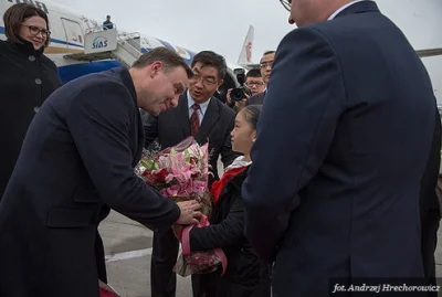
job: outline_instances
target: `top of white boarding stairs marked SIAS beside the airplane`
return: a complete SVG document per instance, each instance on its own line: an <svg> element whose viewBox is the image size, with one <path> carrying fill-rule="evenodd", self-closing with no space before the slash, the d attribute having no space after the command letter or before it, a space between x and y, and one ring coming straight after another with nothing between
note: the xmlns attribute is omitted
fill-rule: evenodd
<svg viewBox="0 0 442 297"><path fill-rule="evenodd" d="M84 35L84 53L65 55L76 61L116 60L130 67L143 54L140 34L118 33L117 30L92 31Z"/></svg>

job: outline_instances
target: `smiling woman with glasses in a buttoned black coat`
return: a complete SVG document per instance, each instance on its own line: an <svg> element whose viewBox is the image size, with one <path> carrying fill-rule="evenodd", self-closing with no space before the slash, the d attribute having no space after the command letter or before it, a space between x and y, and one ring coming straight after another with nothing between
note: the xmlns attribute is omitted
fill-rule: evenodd
<svg viewBox="0 0 442 297"><path fill-rule="evenodd" d="M51 36L46 13L14 4L3 22L8 40L0 41L0 201L33 116L62 85L55 64L43 54Z"/></svg>

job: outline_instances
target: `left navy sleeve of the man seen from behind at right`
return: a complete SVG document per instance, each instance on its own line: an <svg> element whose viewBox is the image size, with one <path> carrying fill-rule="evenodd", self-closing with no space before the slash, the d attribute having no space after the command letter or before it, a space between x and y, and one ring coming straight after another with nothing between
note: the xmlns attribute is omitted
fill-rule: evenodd
<svg viewBox="0 0 442 297"><path fill-rule="evenodd" d="M326 157L345 100L327 41L308 28L288 33L275 56L242 189L245 234L263 258L273 261L299 191Z"/></svg>

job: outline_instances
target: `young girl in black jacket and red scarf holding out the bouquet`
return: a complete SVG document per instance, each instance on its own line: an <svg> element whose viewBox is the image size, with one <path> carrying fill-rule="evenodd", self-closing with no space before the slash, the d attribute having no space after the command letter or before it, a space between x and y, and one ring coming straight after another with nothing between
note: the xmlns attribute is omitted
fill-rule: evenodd
<svg viewBox="0 0 442 297"><path fill-rule="evenodd" d="M193 227L189 233L191 252L210 251L221 247L228 258L225 274L221 269L211 274L193 275L193 296L199 297L270 297L269 264L260 259L244 237L244 210L241 185L251 163L250 150L256 136L256 124L261 105L242 108L235 118L231 132L232 148L242 152L229 166L220 181L215 181L211 192L214 204L210 225ZM182 236L182 227L173 226Z"/></svg>

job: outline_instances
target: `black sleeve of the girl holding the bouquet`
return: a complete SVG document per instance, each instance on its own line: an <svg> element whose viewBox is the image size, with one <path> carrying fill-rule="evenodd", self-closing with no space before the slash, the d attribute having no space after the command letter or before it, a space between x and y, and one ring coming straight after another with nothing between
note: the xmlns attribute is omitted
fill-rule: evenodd
<svg viewBox="0 0 442 297"><path fill-rule="evenodd" d="M215 225L193 227L189 233L191 251L208 251L238 243L244 236L244 210L235 199L228 216Z"/></svg>

